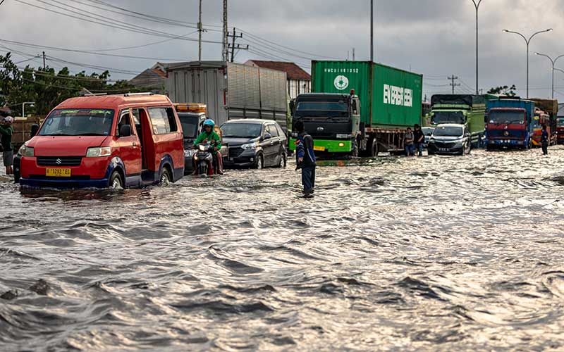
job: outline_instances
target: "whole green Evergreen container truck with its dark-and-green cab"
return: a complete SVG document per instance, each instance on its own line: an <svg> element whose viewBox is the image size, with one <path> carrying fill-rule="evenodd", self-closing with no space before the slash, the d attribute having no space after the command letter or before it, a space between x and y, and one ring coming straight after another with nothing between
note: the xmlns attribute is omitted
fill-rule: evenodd
<svg viewBox="0 0 564 352"><path fill-rule="evenodd" d="M318 153L403 152L407 127L421 123L423 77L369 61L312 61L312 91L292 103ZM295 149L290 139L290 149Z"/></svg>

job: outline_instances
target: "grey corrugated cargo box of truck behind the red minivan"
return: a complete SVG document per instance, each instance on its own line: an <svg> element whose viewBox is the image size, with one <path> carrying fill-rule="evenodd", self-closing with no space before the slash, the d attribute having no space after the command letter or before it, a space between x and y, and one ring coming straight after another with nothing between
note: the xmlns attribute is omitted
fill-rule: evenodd
<svg viewBox="0 0 564 352"><path fill-rule="evenodd" d="M286 129L286 73L223 61L161 64L173 103L207 105L216 125L240 118L276 120Z"/></svg>

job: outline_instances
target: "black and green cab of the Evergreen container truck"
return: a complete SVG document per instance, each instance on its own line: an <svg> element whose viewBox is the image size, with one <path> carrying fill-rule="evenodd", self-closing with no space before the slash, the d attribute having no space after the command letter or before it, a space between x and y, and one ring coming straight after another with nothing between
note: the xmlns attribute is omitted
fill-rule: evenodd
<svg viewBox="0 0 564 352"><path fill-rule="evenodd" d="M357 155L360 139L360 100L347 94L300 94L290 104L293 123L302 121L314 139L314 150L321 153ZM295 138L290 149L295 150Z"/></svg>

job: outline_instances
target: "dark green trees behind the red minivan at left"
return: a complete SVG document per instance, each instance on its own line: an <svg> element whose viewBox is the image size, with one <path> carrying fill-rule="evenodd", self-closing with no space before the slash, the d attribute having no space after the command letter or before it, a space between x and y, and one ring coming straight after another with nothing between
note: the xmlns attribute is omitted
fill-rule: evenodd
<svg viewBox="0 0 564 352"><path fill-rule="evenodd" d="M0 55L0 107L8 106L13 115L21 115L22 103L35 101L35 106L26 106L25 112L47 115L52 108L65 99L79 96L83 89L92 93L137 92L128 81L111 81L109 71L87 75L85 71L71 75L68 68L57 73L54 68L24 69L13 63L11 54Z"/></svg>

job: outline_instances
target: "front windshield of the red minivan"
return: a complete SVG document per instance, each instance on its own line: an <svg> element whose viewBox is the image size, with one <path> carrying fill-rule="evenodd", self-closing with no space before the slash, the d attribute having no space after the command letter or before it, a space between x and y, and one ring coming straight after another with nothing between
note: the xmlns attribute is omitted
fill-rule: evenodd
<svg viewBox="0 0 564 352"><path fill-rule="evenodd" d="M39 136L109 136L111 109L59 109L47 116Z"/></svg>

